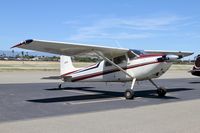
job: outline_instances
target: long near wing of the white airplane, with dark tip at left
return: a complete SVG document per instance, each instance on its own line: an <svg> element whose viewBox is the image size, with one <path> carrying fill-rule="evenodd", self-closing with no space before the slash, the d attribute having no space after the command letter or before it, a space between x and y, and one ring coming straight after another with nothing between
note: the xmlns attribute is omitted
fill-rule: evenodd
<svg viewBox="0 0 200 133"><path fill-rule="evenodd" d="M95 46L87 44L42 41L42 40L32 40L32 39L19 43L13 46L12 48L15 47L28 50L35 50L40 52L47 52L52 54L67 55L67 56L74 56L74 55L91 53L93 51L98 51L108 58L123 55L129 50L124 48L113 48L113 47Z"/></svg>

